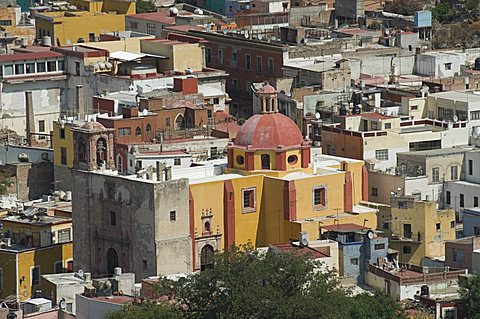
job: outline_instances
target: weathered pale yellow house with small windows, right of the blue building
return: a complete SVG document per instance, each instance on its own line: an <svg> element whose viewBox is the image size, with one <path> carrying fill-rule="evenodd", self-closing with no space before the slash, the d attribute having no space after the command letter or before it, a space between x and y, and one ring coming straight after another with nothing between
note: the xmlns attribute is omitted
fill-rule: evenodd
<svg viewBox="0 0 480 319"><path fill-rule="evenodd" d="M454 240L455 211L437 210L433 201L411 196L393 197L382 208L378 225L390 237L390 248L398 250L399 261L421 265L424 258L445 256L445 242Z"/></svg>

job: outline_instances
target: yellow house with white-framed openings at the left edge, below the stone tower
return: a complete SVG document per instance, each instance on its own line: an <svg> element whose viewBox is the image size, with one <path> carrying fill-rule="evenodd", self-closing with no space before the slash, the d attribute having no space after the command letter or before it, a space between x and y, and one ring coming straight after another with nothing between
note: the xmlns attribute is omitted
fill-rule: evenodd
<svg viewBox="0 0 480 319"><path fill-rule="evenodd" d="M42 274L73 270L71 218L32 208L2 223L0 298L24 301L41 289Z"/></svg>

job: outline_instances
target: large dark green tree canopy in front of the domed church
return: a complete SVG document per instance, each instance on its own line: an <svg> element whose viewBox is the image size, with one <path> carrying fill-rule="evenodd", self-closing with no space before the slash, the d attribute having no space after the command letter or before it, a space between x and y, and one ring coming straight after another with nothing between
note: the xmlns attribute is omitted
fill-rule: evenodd
<svg viewBox="0 0 480 319"><path fill-rule="evenodd" d="M158 306L164 311L158 318L406 318L400 304L381 292L350 296L337 277L319 271L319 262L312 258L241 247L214 254L211 264L176 282L159 281L158 292L172 301L167 308ZM157 310L139 305L109 319L133 318L135 311L138 318L150 318L143 312Z"/></svg>

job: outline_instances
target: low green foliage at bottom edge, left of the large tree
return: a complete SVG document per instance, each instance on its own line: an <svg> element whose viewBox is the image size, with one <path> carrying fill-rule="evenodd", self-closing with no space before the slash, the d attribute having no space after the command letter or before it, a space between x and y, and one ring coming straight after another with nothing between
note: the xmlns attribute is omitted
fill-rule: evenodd
<svg viewBox="0 0 480 319"><path fill-rule="evenodd" d="M144 302L109 313L105 319L180 319L182 314L168 304Z"/></svg>

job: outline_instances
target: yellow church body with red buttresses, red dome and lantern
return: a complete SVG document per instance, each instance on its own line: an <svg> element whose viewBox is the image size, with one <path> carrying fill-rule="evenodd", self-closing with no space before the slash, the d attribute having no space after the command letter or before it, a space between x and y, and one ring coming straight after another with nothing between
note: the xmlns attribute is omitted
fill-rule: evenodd
<svg viewBox="0 0 480 319"><path fill-rule="evenodd" d="M354 223L375 229L376 210L361 205L368 189L364 162L321 155L295 123L278 113L270 85L257 92L262 113L247 120L228 146L225 174L191 179L195 269L233 244L255 246L319 238L320 226Z"/></svg>

